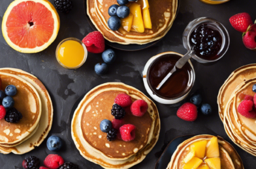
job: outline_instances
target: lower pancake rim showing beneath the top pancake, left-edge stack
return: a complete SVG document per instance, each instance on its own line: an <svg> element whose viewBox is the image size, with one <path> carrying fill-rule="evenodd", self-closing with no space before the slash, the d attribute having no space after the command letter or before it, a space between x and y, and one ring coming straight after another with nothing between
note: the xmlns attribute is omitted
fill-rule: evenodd
<svg viewBox="0 0 256 169"><path fill-rule="evenodd" d="M25 81L29 82L31 85L33 85L37 90L37 92L39 93L40 100L42 103L42 114L39 120L39 127L37 131L34 130L35 134L29 135L30 137L26 137L27 140L25 140L21 144L18 144L15 147L6 148L4 146L0 146L0 153L8 154L12 152L15 154L24 154L31 151L32 149L35 149L35 147L39 146L48 135L52 127L52 119L53 119L52 100L45 86L34 75L31 75L22 70L13 69L13 68L2 68L0 69L0 73L1 72L17 75L22 79L25 79Z"/></svg>

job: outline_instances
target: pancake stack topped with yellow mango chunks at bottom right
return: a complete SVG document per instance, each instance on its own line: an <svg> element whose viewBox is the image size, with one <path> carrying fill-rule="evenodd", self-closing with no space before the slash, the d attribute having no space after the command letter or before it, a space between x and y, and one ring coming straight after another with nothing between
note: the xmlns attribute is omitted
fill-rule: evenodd
<svg viewBox="0 0 256 169"><path fill-rule="evenodd" d="M182 142L182 144L180 144L178 146L178 148L176 149L176 151L174 151L173 155L172 155L172 159L170 160L170 163L167 166L167 169L184 169L187 168L188 166L186 166L186 164L193 164L195 163L198 159L198 164L195 166L189 166L189 168L187 169L191 169L191 168L197 168L197 169L210 169L210 168L221 168L221 169L243 169L243 163L242 160L240 159L240 156L238 155L238 153L236 152L236 150L231 146L231 144L229 144L228 142L226 142L225 140L223 140L223 138L220 137L215 137L216 138L216 144L217 149L219 151L218 153L218 157L211 157L212 162L211 162L211 158L207 157L208 156L208 152L210 153L214 153L214 149L210 149L210 144L211 142L214 142L213 139L214 136L212 135L197 135L197 136L193 136L192 138L189 138L188 140L185 140L184 142ZM198 144L199 143L199 144ZM204 146L201 146L203 144ZM195 146L197 145L197 146ZM197 147L198 149L196 149L196 152L194 154L194 156L190 156L192 149L195 150L194 148ZM197 152L198 151L202 151L202 157L198 157L200 156L200 154ZM205 153L204 153L205 151ZM197 158L198 157L198 158ZM218 159L218 160L216 160ZM220 159L220 161L219 161ZM217 162L218 161L218 162ZM214 162L216 162L216 165L214 165Z"/></svg>

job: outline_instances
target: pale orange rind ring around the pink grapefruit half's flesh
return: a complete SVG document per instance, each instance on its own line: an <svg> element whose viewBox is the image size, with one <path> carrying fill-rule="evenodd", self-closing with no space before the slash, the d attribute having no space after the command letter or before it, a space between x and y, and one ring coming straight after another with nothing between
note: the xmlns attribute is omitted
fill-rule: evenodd
<svg viewBox="0 0 256 169"><path fill-rule="evenodd" d="M29 0L29 1L33 1L35 3L41 3L46 8L48 8L48 10L50 10L50 12L52 13L52 17L54 18L54 32L53 32L51 38L48 40L48 42L41 45L40 47L37 46L37 47L34 47L34 48L22 48L22 47L20 47L16 44L14 44L10 40L10 38L8 37L7 19L8 19L8 16L9 16L12 8L14 8L14 6L18 5L19 3L26 2L26 1L27 0L16 0L16 1L13 1L12 3L10 3L10 5L8 6L8 8L5 12L5 15L3 16L3 22L2 22L3 37L5 38L7 44L10 45L10 47L15 49L16 51L19 51L21 53L38 53L38 52L43 51L44 49L46 49L56 39L57 34L59 32L59 22L60 22L59 21L59 14L57 13L56 8L54 7L54 5L52 5L52 3L50 3L47 0Z"/></svg>

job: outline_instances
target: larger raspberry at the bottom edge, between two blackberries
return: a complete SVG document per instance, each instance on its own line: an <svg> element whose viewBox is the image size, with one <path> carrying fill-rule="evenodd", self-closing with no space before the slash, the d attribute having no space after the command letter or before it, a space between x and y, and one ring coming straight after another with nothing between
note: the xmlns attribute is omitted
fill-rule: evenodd
<svg viewBox="0 0 256 169"><path fill-rule="evenodd" d="M57 169L59 166L61 166L64 163L64 160L62 157L60 157L57 154L50 154L44 159L44 166L51 168L51 169Z"/></svg>

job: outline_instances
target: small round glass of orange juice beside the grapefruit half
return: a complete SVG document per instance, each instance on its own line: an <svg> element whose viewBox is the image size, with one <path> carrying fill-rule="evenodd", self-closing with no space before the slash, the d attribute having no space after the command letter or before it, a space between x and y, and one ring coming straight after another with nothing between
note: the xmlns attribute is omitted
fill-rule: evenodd
<svg viewBox="0 0 256 169"><path fill-rule="evenodd" d="M67 69L80 68L86 62L88 51L86 45L77 38L67 38L59 43L56 49L56 59Z"/></svg>

